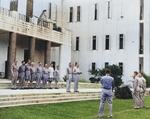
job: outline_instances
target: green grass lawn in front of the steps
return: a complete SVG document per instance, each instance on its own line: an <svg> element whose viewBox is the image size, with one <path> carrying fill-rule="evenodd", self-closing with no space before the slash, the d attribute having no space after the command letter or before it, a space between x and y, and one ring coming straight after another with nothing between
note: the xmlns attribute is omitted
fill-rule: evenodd
<svg viewBox="0 0 150 119"><path fill-rule="evenodd" d="M98 119L100 100L0 108L0 119ZM113 119L150 119L150 96L145 108L133 109L133 100L113 100ZM108 105L104 116L107 119Z"/></svg>

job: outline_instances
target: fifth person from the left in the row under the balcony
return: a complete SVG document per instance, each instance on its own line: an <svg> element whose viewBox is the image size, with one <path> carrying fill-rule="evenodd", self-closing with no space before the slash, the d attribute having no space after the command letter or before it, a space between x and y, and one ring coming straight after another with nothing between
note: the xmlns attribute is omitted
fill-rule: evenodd
<svg viewBox="0 0 150 119"><path fill-rule="evenodd" d="M42 67L41 67L42 63L38 62L38 66L36 67L36 88L40 89L40 83L41 83L41 79L42 79Z"/></svg>

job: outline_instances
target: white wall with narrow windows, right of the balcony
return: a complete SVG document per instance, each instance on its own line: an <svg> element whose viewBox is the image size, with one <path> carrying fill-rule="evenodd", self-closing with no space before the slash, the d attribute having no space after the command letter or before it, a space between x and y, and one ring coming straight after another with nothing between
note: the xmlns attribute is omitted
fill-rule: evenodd
<svg viewBox="0 0 150 119"><path fill-rule="evenodd" d="M112 1L112 19L107 19L107 2L109 0L65 0L64 27L73 31L72 62L80 63L83 71L81 78L88 79L88 70L92 62L97 68L103 68L105 62L119 64L123 62L123 79L130 80L134 70L139 70L139 1ZM94 4L98 4L98 20L94 21ZM130 4L129 4L130 3ZM81 22L75 21L77 6L81 6ZM73 23L68 23L69 7L73 7ZM134 9L133 9L134 8ZM124 17L121 18L120 16ZM124 34L125 48L119 50L119 34ZM90 39L98 37L98 50L90 50ZM105 35L110 35L110 50L105 50ZM74 51L76 37L80 37L80 51Z"/></svg>

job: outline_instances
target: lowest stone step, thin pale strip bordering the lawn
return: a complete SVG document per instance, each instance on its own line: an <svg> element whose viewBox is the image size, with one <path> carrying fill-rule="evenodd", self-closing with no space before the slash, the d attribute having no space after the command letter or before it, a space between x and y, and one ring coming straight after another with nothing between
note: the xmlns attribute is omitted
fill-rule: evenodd
<svg viewBox="0 0 150 119"><path fill-rule="evenodd" d="M14 106L25 106L25 105L37 105L37 104L50 104L50 103L86 101L86 100L99 100L99 99L100 98L88 98L88 99L76 99L76 100L51 101L51 102L42 102L42 103L26 103L26 104L0 105L0 108L3 108L3 107L14 107Z"/></svg>

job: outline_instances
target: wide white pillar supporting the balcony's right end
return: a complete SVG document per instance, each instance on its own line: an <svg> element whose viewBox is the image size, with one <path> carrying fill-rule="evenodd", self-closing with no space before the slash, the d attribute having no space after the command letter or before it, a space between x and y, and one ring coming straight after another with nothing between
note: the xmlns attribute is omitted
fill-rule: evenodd
<svg viewBox="0 0 150 119"><path fill-rule="evenodd" d="M60 45L60 80L67 74L67 67L71 62L71 46Z"/></svg>

